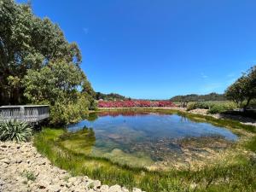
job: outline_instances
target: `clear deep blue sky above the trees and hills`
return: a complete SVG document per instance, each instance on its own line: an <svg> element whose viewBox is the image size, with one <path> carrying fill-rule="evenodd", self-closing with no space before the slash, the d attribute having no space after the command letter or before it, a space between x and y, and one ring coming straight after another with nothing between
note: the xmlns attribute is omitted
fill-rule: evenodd
<svg viewBox="0 0 256 192"><path fill-rule="evenodd" d="M32 0L32 8L79 44L103 93L223 93L256 63L255 0Z"/></svg>

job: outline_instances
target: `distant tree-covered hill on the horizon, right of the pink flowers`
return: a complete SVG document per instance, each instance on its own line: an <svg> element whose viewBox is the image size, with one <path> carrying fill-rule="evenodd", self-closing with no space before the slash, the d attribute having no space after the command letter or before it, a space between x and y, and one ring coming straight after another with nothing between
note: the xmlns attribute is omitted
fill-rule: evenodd
<svg viewBox="0 0 256 192"><path fill-rule="evenodd" d="M224 101L227 100L224 94L210 93L207 95L190 94L186 96L173 96L172 102L207 102L207 101Z"/></svg>

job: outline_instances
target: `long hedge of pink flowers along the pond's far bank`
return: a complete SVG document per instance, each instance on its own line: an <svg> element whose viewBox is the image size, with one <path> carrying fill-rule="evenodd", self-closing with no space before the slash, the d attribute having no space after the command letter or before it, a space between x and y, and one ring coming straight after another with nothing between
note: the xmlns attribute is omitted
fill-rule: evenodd
<svg viewBox="0 0 256 192"><path fill-rule="evenodd" d="M173 102L148 100L127 100L127 101L99 101L99 108L167 108L175 107Z"/></svg>

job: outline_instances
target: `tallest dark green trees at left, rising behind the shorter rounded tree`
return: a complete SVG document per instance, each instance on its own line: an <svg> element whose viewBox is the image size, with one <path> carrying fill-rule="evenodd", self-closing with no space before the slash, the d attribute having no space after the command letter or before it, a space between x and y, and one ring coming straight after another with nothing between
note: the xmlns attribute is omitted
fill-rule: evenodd
<svg viewBox="0 0 256 192"><path fill-rule="evenodd" d="M49 61L79 66L78 45L68 43L61 28L32 14L29 4L0 0L0 105L25 102L20 81L27 69L38 70Z"/></svg>

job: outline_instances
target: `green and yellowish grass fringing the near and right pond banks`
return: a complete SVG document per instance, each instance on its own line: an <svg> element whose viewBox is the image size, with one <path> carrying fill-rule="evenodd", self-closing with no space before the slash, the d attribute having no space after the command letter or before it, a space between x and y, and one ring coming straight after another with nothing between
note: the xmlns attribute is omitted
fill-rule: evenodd
<svg viewBox="0 0 256 192"><path fill-rule="evenodd" d="M150 112L177 113L199 122L241 129L255 133L255 127L241 125L233 120L214 119L204 115L195 115L173 110L150 109ZM245 154L236 155L231 163L227 160L201 170L172 170L168 172L148 171L140 167L131 167L113 163L104 158L94 158L65 148L61 136L65 130L44 129L34 137L38 151L62 169L73 175L87 175L99 179L104 184L120 184L129 189L141 188L148 192L158 191L256 191L256 163ZM255 152L256 139L244 144L244 148Z"/></svg>

